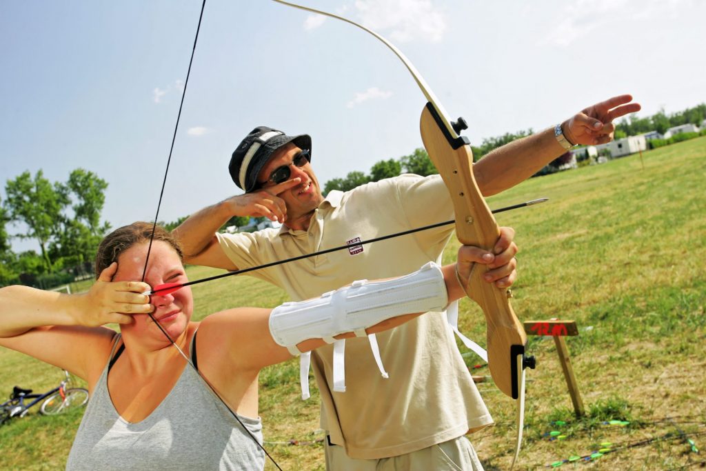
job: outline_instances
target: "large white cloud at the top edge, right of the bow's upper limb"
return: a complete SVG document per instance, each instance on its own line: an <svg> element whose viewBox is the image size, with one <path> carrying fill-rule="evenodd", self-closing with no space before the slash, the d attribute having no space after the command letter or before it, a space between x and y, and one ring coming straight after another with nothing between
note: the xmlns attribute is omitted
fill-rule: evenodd
<svg viewBox="0 0 706 471"><path fill-rule="evenodd" d="M431 0L357 0L355 7L367 28L390 31L393 42L438 42L446 30L443 13Z"/></svg>

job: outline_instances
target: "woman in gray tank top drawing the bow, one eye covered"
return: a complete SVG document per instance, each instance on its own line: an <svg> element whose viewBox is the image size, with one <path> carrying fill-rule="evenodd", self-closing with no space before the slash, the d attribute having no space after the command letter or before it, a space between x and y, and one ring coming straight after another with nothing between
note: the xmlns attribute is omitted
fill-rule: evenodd
<svg viewBox="0 0 706 471"><path fill-rule="evenodd" d="M105 237L99 276L86 294L0 289L0 345L88 382L91 400L68 470L263 469L257 379L264 366L291 358L295 348L325 345L323 338L375 333L419 315L409 313L443 309L465 295L455 269L466 279L472 263L491 263L493 281L512 283L516 276L513 232L503 229L505 250L492 261L465 246L457 266L427 267L400 281L354 285L273 311L229 309L192 322L189 287L143 294L187 281L179 244L159 227L140 281L151 235L151 224L136 222ZM401 301L390 310L395 293ZM369 302L355 306L354 316L352 309L340 314L357 299ZM107 323L119 323L120 332Z"/></svg>

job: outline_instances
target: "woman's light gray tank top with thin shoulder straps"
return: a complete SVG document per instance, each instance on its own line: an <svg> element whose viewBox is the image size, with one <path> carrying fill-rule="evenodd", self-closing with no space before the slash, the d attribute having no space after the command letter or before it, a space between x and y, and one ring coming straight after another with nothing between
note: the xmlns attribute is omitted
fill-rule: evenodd
<svg viewBox="0 0 706 471"><path fill-rule="evenodd" d="M196 337L196 335L194 335ZM116 336L113 358L120 335ZM194 345L192 343L191 352ZM110 363L110 361L109 361ZM66 470L262 470L265 454L186 366L162 403L144 420L127 422L110 400L107 364L68 454ZM260 419L238 415L259 443Z"/></svg>

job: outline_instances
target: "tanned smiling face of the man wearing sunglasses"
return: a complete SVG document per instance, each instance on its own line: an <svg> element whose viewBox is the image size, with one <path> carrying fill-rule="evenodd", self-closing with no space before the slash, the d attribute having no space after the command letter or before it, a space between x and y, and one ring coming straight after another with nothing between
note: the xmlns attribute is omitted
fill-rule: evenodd
<svg viewBox="0 0 706 471"><path fill-rule="evenodd" d="M282 166L289 168L288 181L297 177L301 179L299 185L277 194L287 205L287 220L297 220L304 215L312 213L323 201L321 187L309 162L306 162L301 167L292 164L292 161L299 153L301 153L301 149L293 143L283 145L282 148L277 149L273 154L267 165L258 174L257 179L262 189L270 189L275 186L273 181L269 181L270 175L275 169Z"/></svg>

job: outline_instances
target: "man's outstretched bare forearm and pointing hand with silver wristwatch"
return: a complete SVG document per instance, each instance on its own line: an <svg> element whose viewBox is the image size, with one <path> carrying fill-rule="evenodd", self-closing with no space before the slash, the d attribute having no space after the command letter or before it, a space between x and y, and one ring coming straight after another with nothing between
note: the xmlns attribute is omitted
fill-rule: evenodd
<svg viewBox="0 0 706 471"><path fill-rule="evenodd" d="M563 121L564 136L573 144L597 145L612 141L614 119L640 110L633 97L620 95L582 109ZM554 128L517 139L484 156L473 166L481 193L491 196L525 181L565 153L554 137Z"/></svg>

